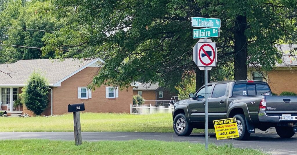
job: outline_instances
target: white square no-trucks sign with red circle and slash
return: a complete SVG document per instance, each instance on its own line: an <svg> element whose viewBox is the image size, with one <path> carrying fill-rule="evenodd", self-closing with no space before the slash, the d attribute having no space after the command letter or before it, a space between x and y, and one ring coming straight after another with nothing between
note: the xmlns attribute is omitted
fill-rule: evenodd
<svg viewBox="0 0 297 155"><path fill-rule="evenodd" d="M197 44L197 66L217 66L217 45L215 42L198 42Z"/></svg>

